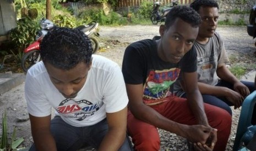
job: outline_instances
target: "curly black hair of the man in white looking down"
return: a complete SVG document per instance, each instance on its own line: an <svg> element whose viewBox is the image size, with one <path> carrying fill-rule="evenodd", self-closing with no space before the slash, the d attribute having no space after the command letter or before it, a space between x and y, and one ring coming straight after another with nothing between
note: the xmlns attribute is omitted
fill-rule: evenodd
<svg viewBox="0 0 256 151"><path fill-rule="evenodd" d="M54 27L40 44L43 62L69 70L78 63L91 61L92 44L88 36L75 28Z"/></svg>

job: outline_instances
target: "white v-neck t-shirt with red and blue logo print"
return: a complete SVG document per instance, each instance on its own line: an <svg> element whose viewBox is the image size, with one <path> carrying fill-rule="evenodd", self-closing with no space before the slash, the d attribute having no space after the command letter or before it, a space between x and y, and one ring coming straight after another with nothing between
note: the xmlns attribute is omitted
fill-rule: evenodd
<svg viewBox="0 0 256 151"><path fill-rule="evenodd" d="M92 55L88 77L75 98L65 98L55 88L42 61L26 74L25 98L31 115L46 117L53 107L66 123L77 127L99 123L106 113L121 111L128 103L121 68L99 55Z"/></svg>

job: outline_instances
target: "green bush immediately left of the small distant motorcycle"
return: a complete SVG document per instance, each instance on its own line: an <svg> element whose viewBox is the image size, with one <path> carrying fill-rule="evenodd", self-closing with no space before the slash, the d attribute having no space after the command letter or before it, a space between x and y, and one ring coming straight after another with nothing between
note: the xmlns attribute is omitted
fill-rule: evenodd
<svg viewBox="0 0 256 151"><path fill-rule="evenodd" d="M144 19L149 19L152 12L153 3L149 1L143 1L140 4L140 7L137 11L137 17L141 19L143 17Z"/></svg>

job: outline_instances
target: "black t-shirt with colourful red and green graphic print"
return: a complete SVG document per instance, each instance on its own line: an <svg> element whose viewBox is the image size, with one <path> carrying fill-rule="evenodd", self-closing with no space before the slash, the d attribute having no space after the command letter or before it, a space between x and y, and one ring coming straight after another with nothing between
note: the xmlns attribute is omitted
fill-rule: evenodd
<svg viewBox="0 0 256 151"><path fill-rule="evenodd" d="M172 85L180 72L197 71L197 53L192 47L178 63L165 62L157 54L153 39L144 39L130 44L122 65L124 81L127 84L143 84L143 101L154 105L168 101L172 96Z"/></svg>

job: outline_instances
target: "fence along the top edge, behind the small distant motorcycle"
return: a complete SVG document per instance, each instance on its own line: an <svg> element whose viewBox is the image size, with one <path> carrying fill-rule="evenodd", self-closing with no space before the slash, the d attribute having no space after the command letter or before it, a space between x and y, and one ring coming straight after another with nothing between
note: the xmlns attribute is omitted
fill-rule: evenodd
<svg viewBox="0 0 256 151"><path fill-rule="evenodd" d="M119 0L117 7L122 8L122 7L138 7L142 1L145 0ZM151 2L161 2L162 5L168 5L171 4L173 0L148 0ZM190 4L194 0L179 0L179 4Z"/></svg>

